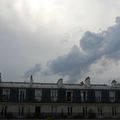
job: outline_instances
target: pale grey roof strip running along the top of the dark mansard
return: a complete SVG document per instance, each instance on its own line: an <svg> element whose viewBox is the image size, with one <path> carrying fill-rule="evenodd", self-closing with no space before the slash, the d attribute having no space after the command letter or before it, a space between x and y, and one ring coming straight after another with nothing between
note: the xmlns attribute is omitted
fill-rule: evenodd
<svg viewBox="0 0 120 120"><path fill-rule="evenodd" d="M17 87L17 88L54 88L58 89L57 83L32 83L29 82L1 82L0 87ZM120 84L112 87L107 84L91 84L90 87L80 84L63 84L62 88L65 89L120 89Z"/></svg>

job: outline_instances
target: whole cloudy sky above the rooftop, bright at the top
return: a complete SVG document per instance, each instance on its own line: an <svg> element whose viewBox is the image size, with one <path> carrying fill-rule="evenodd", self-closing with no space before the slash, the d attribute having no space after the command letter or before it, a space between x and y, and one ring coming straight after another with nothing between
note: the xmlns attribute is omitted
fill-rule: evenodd
<svg viewBox="0 0 120 120"><path fill-rule="evenodd" d="M119 0L0 0L3 81L120 81Z"/></svg>

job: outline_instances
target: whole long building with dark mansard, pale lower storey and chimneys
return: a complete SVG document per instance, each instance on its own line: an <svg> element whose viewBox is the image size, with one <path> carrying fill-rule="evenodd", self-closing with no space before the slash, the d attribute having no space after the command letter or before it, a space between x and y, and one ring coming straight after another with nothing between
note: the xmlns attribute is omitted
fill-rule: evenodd
<svg viewBox="0 0 120 120"><path fill-rule="evenodd" d="M120 85L0 82L0 118L120 118Z"/></svg>

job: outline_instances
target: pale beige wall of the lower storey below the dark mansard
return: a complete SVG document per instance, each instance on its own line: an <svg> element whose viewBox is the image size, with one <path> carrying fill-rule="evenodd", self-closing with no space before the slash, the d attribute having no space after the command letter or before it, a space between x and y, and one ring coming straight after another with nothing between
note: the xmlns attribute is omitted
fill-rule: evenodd
<svg viewBox="0 0 120 120"><path fill-rule="evenodd" d="M68 107L72 107L72 114L71 116L77 115L77 114L83 114L83 107L87 107L87 115L89 115L90 111L97 116L101 118L112 118L112 117L120 117L120 105L119 104L21 104L21 103L0 103L0 113L2 111L2 108L4 106L7 106L7 113L13 113L14 116L19 116L19 107L23 106L24 107L24 115L26 116L28 113L31 115L35 113L35 107L40 107L40 113L56 113L56 114L61 114L64 113L68 115ZM116 115L112 116L112 107L116 106ZM102 108L102 115L98 115L98 107Z"/></svg>

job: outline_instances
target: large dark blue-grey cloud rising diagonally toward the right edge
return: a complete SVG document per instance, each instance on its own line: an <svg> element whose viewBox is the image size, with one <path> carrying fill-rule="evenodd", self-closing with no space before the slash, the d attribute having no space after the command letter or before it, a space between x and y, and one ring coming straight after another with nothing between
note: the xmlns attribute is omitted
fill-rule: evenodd
<svg viewBox="0 0 120 120"><path fill-rule="evenodd" d="M80 40L80 47L73 46L68 54L49 62L48 66L53 74L68 76L69 82L75 83L103 57L113 62L120 60L120 17L106 31L87 31Z"/></svg>

